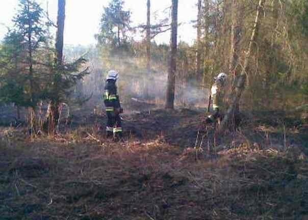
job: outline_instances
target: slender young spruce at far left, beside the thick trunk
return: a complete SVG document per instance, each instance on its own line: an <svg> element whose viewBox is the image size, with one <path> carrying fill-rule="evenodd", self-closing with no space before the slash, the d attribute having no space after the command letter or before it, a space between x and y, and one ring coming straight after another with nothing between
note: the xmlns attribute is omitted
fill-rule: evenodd
<svg viewBox="0 0 308 220"><path fill-rule="evenodd" d="M29 106L30 124L32 133L36 129L35 108L41 96L38 51L45 41L43 28L43 10L34 0L19 0L19 9L13 22L16 35L20 38L20 65L18 73L27 80L23 82L24 103Z"/></svg>

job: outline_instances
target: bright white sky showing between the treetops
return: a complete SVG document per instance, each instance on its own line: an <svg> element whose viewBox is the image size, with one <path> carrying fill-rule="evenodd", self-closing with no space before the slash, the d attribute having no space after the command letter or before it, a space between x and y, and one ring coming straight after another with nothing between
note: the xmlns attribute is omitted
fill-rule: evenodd
<svg viewBox="0 0 308 220"><path fill-rule="evenodd" d="M46 2L49 2L49 16L56 22L58 0L37 0L41 7L46 9ZM65 20L65 44L94 44L94 34L98 33L99 21L103 12L103 7L108 6L110 0L66 0L66 20ZM178 28L179 40L192 43L196 38L196 30L192 28L191 20L197 17L197 0L179 0L178 22L183 23ZM12 18L16 14L18 0L0 0L0 40L7 32L6 26L12 26ZM163 10L171 6L171 0L151 1L151 22L161 18ZM126 0L125 9L132 11L131 20L133 25L146 22L146 0ZM155 12L158 17L155 19ZM167 11L168 12L168 11ZM168 43L170 33L166 32L158 35L155 40L158 43Z"/></svg>

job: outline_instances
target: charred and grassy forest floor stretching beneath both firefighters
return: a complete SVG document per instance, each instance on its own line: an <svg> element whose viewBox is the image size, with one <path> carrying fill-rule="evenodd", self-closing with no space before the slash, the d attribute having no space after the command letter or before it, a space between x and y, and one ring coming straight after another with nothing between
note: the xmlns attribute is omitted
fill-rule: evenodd
<svg viewBox="0 0 308 220"><path fill-rule="evenodd" d="M307 126L247 113L216 135L203 109L76 113L60 134L0 127L0 219L308 219Z"/></svg>

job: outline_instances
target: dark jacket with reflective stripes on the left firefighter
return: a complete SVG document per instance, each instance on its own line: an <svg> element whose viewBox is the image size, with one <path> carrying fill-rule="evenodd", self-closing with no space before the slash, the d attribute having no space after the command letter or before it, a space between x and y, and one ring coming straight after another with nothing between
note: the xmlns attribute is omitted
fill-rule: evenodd
<svg viewBox="0 0 308 220"><path fill-rule="evenodd" d="M104 103L107 112L114 112L115 109L121 108L117 86L115 83L116 81L112 79L106 81Z"/></svg>

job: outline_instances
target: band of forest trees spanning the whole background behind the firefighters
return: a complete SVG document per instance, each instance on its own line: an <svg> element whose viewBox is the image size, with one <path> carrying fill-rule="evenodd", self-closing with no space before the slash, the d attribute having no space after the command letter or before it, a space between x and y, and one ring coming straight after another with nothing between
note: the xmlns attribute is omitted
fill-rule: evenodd
<svg viewBox="0 0 308 220"><path fill-rule="evenodd" d="M65 1L59 0L59 13L61 2ZM192 45L176 35L181 2L170 1L161 20L151 19L153 4L144 0L147 19L132 26L132 12L125 9L124 1L112 0L102 11L97 44L64 48L64 59L59 52L61 37L57 34L53 39L49 31L56 26L62 32L61 13L57 24L52 24L34 0L20 0L14 28L0 47L0 102L27 107L34 116L38 103L45 101L57 121L55 109L60 103L70 101L81 88L89 93L92 88L98 95L104 73L112 68L121 73L120 91L130 89L123 94L124 101L132 93L157 98L155 89L163 85L165 94L159 98L173 108L177 95L191 87L204 90L206 96L213 77L225 72L232 82L226 100L234 106L232 114L239 108L289 111L306 106L307 1L196 0L198 10L191 25L197 35ZM170 45L155 42L157 35L170 30ZM143 40L134 39L137 32ZM86 77L87 70L80 72L86 61L78 59L83 52L88 52L93 72ZM51 119L45 120L43 125L50 123Z"/></svg>

